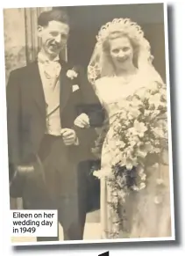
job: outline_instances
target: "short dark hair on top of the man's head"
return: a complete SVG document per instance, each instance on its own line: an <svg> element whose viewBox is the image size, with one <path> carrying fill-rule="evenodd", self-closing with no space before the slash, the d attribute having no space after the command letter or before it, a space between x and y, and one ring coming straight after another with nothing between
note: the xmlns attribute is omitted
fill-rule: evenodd
<svg viewBox="0 0 185 256"><path fill-rule="evenodd" d="M38 26L48 26L48 23L53 20L69 25L67 11L62 8L53 8L51 11L43 11L40 13Z"/></svg>

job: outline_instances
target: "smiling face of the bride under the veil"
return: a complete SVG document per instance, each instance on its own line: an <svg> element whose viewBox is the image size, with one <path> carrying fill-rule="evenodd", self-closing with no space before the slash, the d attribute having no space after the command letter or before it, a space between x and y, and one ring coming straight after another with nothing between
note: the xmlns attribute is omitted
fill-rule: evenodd
<svg viewBox="0 0 185 256"><path fill-rule="evenodd" d="M116 69L131 67L133 60L133 48L127 37L110 40L110 57Z"/></svg>

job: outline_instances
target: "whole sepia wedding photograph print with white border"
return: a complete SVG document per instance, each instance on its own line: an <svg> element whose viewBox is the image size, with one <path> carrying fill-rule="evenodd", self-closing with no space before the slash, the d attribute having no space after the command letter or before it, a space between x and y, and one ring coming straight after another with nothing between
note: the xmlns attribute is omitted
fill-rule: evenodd
<svg viewBox="0 0 185 256"><path fill-rule="evenodd" d="M162 3L4 9L12 245L174 240L167 40Z"/></svg>

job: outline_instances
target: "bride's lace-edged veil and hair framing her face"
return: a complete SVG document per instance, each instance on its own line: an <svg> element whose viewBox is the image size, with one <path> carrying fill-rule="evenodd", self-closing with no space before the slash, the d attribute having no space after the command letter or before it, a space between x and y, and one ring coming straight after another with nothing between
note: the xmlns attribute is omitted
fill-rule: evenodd
<svg viewBox="0 0 185 256"><path fill-rule="evenodd" d="M153 67L151 47L141 27L130 18L115 18L101 27L96 36L96 46L88 66L89 82L94 84L99 77L110 77L115 73L110 58L110 40L126 37L133 48L133 64L138 69Z"/></svg>

